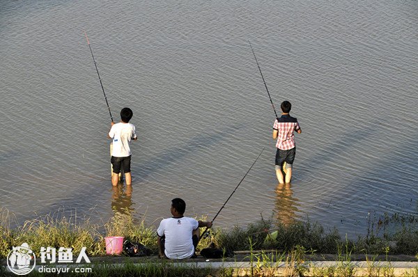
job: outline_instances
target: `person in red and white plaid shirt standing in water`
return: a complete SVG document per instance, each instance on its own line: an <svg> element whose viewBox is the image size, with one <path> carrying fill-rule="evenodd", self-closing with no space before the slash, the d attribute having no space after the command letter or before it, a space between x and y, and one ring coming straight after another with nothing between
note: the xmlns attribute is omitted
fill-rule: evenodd
<svg viewBox="0 0 418 277"><path fill-rule="evenodd" d="M293 161L295 160L296 145L294 131L302 133L296 118L289 114L292 109L291 102L284 101L280 105L281 117L274 121L273 139L277 139L276 147L276 176L279 184L291 182ZM286 180L281 173L281 166L286 161Z"/></svg>

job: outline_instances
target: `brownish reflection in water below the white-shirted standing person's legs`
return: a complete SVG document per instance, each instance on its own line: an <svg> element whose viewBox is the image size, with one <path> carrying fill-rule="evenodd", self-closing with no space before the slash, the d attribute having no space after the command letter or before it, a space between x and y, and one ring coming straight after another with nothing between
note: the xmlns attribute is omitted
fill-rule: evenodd
<svg viewBox="0 0 418 277"><path fill-rule="evenodd" d="M113 190L111 196L111 209L114 211L115 216L130 217L134 208L132 203L132 185L126 185L119 183L117 186L112 186Z"/></svg>

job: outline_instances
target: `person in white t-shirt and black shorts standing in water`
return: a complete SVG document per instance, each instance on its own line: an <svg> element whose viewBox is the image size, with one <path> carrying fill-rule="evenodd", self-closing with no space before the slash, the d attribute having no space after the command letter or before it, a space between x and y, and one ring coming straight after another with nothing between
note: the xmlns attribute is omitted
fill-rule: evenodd
<svg viewBox="0 0 418 277"><path fill-rule="evenodd" d="M111 174L111 184L117 186L119 182L119 173L121 169L125 173L126 185L132 184L132 177L130 173L131 150L129 147L130 141L137 140L135 134L135 126L129 122L134 113L129 108L121 110L121 122L115 124L111 122L111 129L107 135L113 139L113 148L111 150L111 165L113 166L113 173Z"/></svg>

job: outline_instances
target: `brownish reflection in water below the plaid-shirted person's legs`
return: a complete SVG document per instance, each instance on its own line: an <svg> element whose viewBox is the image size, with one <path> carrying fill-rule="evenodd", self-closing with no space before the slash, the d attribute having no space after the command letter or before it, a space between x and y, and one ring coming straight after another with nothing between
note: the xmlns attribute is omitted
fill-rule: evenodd
<svg viewBox="0 0 418 277"><path fill-rule="evenodd" d="M277 220L284 225L293 223L299 212L297 205L298 199L293 197L291 184L278 184L276 187L276 203L274 210Z"/></svg>

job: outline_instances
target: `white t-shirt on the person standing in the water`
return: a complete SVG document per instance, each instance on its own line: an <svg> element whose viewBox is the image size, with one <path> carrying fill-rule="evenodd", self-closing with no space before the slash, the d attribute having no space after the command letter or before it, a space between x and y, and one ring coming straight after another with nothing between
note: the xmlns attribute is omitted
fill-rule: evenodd
<svg viewBox="0 0 418 277"><path fill-rule="evenodd" d="M135 139L135 126L131 123L119 122L110 129L109 136L113 139L113 149L111 155L113 157L128 157L132 153L129 143L131 139Z"/></svg>

